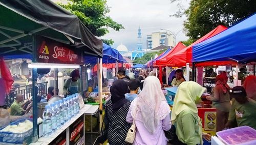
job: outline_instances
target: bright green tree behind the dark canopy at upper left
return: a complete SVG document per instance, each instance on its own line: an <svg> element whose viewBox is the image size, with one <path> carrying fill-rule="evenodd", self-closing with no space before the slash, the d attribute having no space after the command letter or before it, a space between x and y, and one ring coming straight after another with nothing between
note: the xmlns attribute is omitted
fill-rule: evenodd
<svg viewBox="0 0 256 145"><path fill-rule="evenodd" d="M109 33L109 28L115 31L124 28L122 24L107 16L110 8L105 0L70 0L67 5L59 5L75 14L95 36L104 36ZM104 42L114 43L113 40L104 40Z"/></svg>

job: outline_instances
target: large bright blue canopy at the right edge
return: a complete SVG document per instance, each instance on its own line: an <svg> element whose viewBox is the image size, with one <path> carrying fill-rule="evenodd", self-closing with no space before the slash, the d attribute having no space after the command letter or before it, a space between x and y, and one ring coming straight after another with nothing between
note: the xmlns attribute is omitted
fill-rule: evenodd
<svg viewBox="0 0 256 145"><path fill-rule="evenodd" d="M256 61L256 13L193 46L193 62Z"/></svg>

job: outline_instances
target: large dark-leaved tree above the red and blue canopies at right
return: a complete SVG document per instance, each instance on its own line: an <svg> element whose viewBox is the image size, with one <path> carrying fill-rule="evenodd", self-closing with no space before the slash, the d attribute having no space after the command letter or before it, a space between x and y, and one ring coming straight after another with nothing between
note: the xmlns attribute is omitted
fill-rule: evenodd
<svg viewBox="0 0 256 145"><path fill-rule="evenodd" d="M178 2L180 0L170 0ZM187 10L179 9L178 13L172 16L185 14L187 19L184 22L186 35L193 41L201 38L218 25L231 26L241 19L256 12L255 0L191 0Z"/></svg>

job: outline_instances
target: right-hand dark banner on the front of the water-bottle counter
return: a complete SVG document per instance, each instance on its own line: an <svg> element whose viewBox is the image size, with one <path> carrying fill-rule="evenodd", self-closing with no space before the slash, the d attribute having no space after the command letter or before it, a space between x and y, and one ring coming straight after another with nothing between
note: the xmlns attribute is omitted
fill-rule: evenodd
<svg viewBox="0 0 256 145"><path fill-rule="evenodd" d="M69 144L70 145L83 145L84 144L84 122L83 115L78 118L72 125L69 127Z"/></svg>

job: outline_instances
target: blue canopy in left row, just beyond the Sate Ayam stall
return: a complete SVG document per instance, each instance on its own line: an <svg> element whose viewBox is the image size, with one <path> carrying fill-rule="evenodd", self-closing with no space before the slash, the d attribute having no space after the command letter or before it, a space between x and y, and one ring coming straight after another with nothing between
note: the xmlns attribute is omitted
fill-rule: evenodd
<svg viewBox="0 0 256 145"><path fill-rule="evenodd" d="M126 63L126 61L123 59L123 56L114 48L111 48L109 45L106 45L103 43L103 58L102 63L103 64L112 64L116 63L118 61L119 63ZM96 64L97 63L97 57L96 56L84 56L84 62L87 64Z"/></svg>

